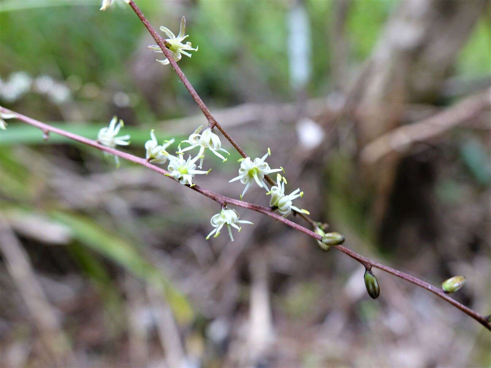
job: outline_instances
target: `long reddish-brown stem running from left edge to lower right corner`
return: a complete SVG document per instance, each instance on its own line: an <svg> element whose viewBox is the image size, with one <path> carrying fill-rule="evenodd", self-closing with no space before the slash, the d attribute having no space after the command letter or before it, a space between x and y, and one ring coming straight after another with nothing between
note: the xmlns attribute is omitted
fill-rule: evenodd
<svg viewBox="0 0 491 368"><path fill-rule="evenodd" d="M67 137L69 139L72 139L72 140L81 142L83 144L95 147L101 151L108 152L109 154L112 154L112 155L118 156L120 158L124 158L126 160L132 161L134 163L143 165L143 166L145 166L151 170L154 170L160 174L163 174L163 175L168 174L168 171L164 170L163 168L161 168L159 166L156 166L156 165L148 162L145 158L137 157L137 156L131 155L129 153L116 150L115 148L106 147L106 146L100 144L99 142L97 142L95 140L88 139L88 138L85 138L81 135L74 134L74 133L59 129L59 128L52 127L51 125L42 123L38 120L32 119L30 117L27 117L27 116L22 115L18 112L6 109L6 108L1 107L1 106L0 106L0 112L4 112L7 114L15 114L17 119L19 119L19 120L21 120L21 121L23 121L29 125L32 125L36 128L39 128L41 131L43 131L43 134L46 136L50 132L53 132L53 133L62 135L64 137ZM172 179L170 177L169 177L169 179L171 179L175 182L174 179ZM322 237L320 235L317 235L313 231L311 231L311 230L309 230L309 229L307 229L307 228L305 228L305 227L303 227L303 226L301 226L301 225L299 225L293 221L290 221L287 218L280 216L278 213L274 212L269 207L258 206L258 205L244 202L244 201L240 201L240 200L237 200L234 198L228 198L228 197L225 197L221 194L215 193L209 189L203 188L199 185L190 186L190 185L186 184L185 186L187 186L188 188L191 188L192 190L194 190L198 193L201 193L201 194L207 196L208 198L213 199L214 201L218 202L220 204L220 206L225 206L227 204L230 204L230 205L234 205L234 206L238 206L238 207L243 207L243 208L246 208L248 210L253 210L256 212L263 213L267 216L274 218L275 220L283 222L284 224L294 228L295 230L298 230L298 231L300 231L300 232L302 232L302 233L304 233L310 237L313 237L316 240L322 241ZM371 269L372 267L379 268L382 271L385 271L385 272L390 273L394 276L400 277L403 280L409 281L410 283L413 283L414 285L417 285L420 288L423 288L423 289L426 289L428 291L433 292L434 294L436 294L437 296L439 296L443 300L452 304L454 307L460 309L466 315L469 315L470 317L474 318L476 321L478 321L483 326L485 326L488 330L491 331L491 324L489 321L489 316L480 315L479 313L473 311L472 309L464 306L463 304L459 303L457 300L455 300L455 299L451 298L449 295L445 294L442 289L436 288L435 286L433 286L433 285L431 285L431 284L429 284L423 280L420 280L417 277L411 276L405 272L401 272L401 271L394 269L392 267L383 265L383 264L378 263L378 262L371 261L368 258L363 257L362 255L356 253L355 251L353 251L353 250L351 250L351 249L349 249L343 245L336 245L334 247L336 249L338 249L339 251L347 254L351 258L355 259L359 263L363 264L368 269Z"/></svg>

